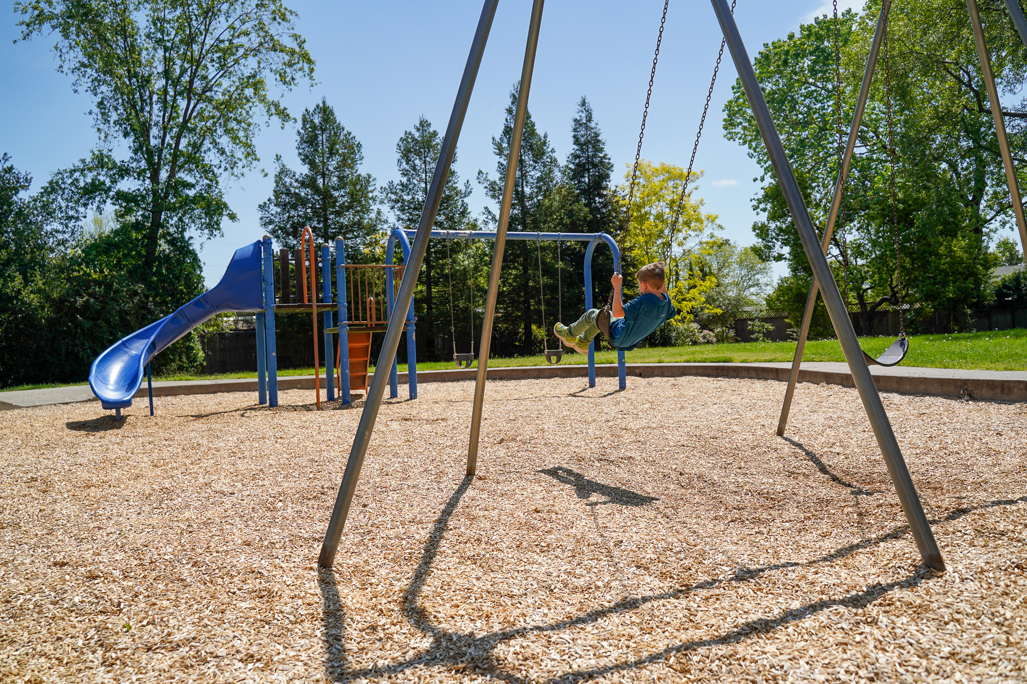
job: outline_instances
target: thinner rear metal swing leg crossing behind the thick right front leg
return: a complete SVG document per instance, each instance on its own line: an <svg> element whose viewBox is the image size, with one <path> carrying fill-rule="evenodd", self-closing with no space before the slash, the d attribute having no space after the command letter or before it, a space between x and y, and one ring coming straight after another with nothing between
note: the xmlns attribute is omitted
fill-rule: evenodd
<svg viewBox="0 0 1027 684"><path fill-rule="evenodd" d="M874 40L870 43L870 54L867 56L867 69L863 72L863 84L860 85L860 97L855 101L855 111L852 113L852 125L848 129L848 143L845 145L845 154L842 156L841 168L838 169L838 180L835 182L835 195L831 200L831 212L828 215L828 224L824 230L824 239L821 240L821 251L824 256L828 254L831 246L831 236L834 234L835 221L838 220L838 212L841 210L842 190L845 187L845 179L848 178L848 166L852 162L852 152L855 150L855 140L860 134L860 125L863 123L863 112L867 108L867 99L870 97L870 83L874 78L874 69L877 66L877 55L884 41L884 31L887 29L888 12L891 10L891 0L884 0L881 3L881 13L877 17L877 29L874 31ZM802 312L802 325L799 327L799 339L795 343L795 356L792 358L792 372L788 376L788 388L785 390L785 403L781 407L781 419L777 421L777 436L785 434L785 427L788 425L788 413L792 409L792 395L795 393L795 384L799 381L799 368L802 364L802 352L806 348L806 337L809 335L809 324L813 319L813 308L816 306L816 294L821 284L813 278L813 283L809 288L809 296L806 298L806 308ZM847 309L846 309L846 315Z"/></svg>

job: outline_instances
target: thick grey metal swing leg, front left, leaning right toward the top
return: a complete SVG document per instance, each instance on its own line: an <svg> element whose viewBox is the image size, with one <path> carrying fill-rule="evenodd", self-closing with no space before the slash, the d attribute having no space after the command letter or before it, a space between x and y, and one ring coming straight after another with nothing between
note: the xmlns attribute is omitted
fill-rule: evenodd
<svg viewBox="0 0 1027 684"><path fill-rule="evenodd" d="M435 175L431 179L428 196L424 202L424 210L421 212L421 222L417 227L417 237L414 240L413 253L407 261L407 267L404 269L403 281L400 284L400 296L397 298L397 306L401 311L406 310L414 299L417 274L421 270L421 264L424 262L424 253L428 249L428 235L431 233L431 226L434 224L435 214L439 212L439 204L443 198L446 179L449 178L453 155L456 153L456 143L460 138L460 127L463 125L463 117L467 112L467 104L470 102L470 93L474 88L474 79L478 77L478 68L482 64L485 43L488 40L489 30L492 28L492 20L496 14L496 6L498 4L499 0L485 0L485 4L482 7L482 15L478 21L478 29L474 32L474 39L470 45L470 54L467 55L463 78L460 80L456 102L453 104L453 112L450 114L446 137L443 139L443 147L440 150L439 162L435 164ZM403 334L403 322L401 316L389 319L388 330L385 332L385 341L382 343L381 352L379 353L379 368L387 366L395 357L395 350L400 346L400 336ZM339 494L335 498L332 519L329 521L328 530L325 531L325 543L321 545L320 556L317 559L317 565L322 568L331 568L335 562L335 554L339 549L339 537L342 535L342 528L346 524L346 516L349 514L349 506L353 501L353 493L356 491L356 481L360 477L360 467L364 465L364 457L368 452L371 433L375 428L375 419L378 417L378 411L382 404L382 395L385 393L387 375L386 373L375 373L371 387L368 389L367 402L364 405L364 411L360 413L360 422L356 426L356 434L353 436L353 447L349 452L349 460L346 461L346 471L342 477Z"/></svg>

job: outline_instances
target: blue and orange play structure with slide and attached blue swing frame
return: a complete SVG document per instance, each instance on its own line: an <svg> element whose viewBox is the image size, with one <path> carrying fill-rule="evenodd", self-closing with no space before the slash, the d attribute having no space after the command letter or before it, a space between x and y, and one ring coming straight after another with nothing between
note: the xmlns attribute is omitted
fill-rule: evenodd
<svg viewBox="0 0 1027 684"><path fill-rule="evenodd" d="M306 235L313 236L309 228ZM374 333L388 330L395 309L395 281L402 277L405 265L394 264L395 246L400 245L404 261L411 254L409 237L414 231L396 228L389 236L384 264L347 264L345 244L335 240L333 251L321 244L319 259L312 258L304 248L290 253L279 249L277 256L271 238L264 236L235 252L225 275L210 292L192 300L170 316L119 340L100 354L89 372L89 384L104 409L113 409L117 419L121 410L131 406L132 397L146 376L153 415L153 389L150 362L173 342L210 320L218 313L256 313L258 402L278 406L278 371L276 363L277 331L275 316L283 313L319 312L324 320L325 389L329 402L336 396L343 404L352 402L351 392L367 390ZM432 237L445 239L495 239L489 231L432 231ZM615 268L620 268L620 251L606 233L508 233L508 239L556 240L587 242L584 256L585 307L592 308L592 257L601 242L613 253ZM275 263L277 262L277 263ZM319 262L319 264L318 264ZM335 272L333 288L332 273ZM277 273L277 277L275 274ZM318 286L318 277L319 286ZM337 302L333 302L333 291ZM319 293L319 297L317 296ZM319 301L318 301L319 300ZM403 319L407 333L407 367L410 398L417 398L417 319L414 302L405 308ZM334 318L338 319L337 325ZM313 327L314 367L318 363L317 327ZM626 387L624 352L617 352L617 377L620 389ZM390 396L400 395L398 362L393 355L389 370ZM320 408L320 372L317 371L315 403ZM588 386L596 386L595 345L588 347Z"/></svg>

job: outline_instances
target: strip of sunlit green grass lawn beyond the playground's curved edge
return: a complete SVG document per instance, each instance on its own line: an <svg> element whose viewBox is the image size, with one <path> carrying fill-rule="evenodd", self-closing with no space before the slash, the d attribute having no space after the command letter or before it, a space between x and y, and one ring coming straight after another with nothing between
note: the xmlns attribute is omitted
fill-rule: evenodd
<svg viewBox="0 0 1027 684"><path fill-rule="evenodd" d="M871 356L884 351L895 340L883 337L860 339L863 348ZM790 362L795 353L794 342L749 342L745 344L703 344L692 347L653 347L629 351L631 364L744 364ZM841 347L837 340L814 340L806 343L804 360L843 362ZM562 364L586 364L585 354L567 352ZM615 364L617 354L613 351L596 353L597 364ZM515 358L492 358L492 368L506 366L544 366L545 357L519 356ZM958 333L953 335L917 335L910 338L910 350L903 366L926 368L961 368L988 371L1027 371L1027 329L1004 330L992 333ZM424 362L417 365L422 371L455 369L453 362ZM321 369L324 372L324 369ZM407 365L400 364L406 371ZM311 375L313 368L297 368L278 371L279 377L291 375ZM222 375L167 375L154 380L215 380L221 378L253 378L256 373L225 373ZM69 383L69 384L86 384ZM58 384L18 385L5 387L2 391L15 389L38 389L59 387Z"/></svg>

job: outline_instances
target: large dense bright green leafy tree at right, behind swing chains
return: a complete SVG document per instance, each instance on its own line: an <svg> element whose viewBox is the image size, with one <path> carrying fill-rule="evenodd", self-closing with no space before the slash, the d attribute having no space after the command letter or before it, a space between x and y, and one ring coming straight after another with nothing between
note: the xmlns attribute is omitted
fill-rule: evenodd
<svg viewBox="0 0 1027 684"><path fill-rule="evenodd" d="M870 2L866 13L845 12L839 22L841 118L846 130L878 11L879 2ZM982 3L1000 88L1013 93L1023 84L1027 53L1004 12L1001 3ZM765 46L755 61L810 214L821 225L838 172L834 36L834 21L816 18ZM953 10L941 0L895 5L887 43L887 59L882 53L859 134L830 257L844 266L836 269L839 283L864 312L895 304L900 296L922 303L924 310L965 310L984 295L994 261L987 249L989 235L1012 219L965 9ZM893 208L885 65L897 162ZM1027 152L1022 96L1010 110L1011 142L1022 157ZM761 250L789 263L790 279L771 299L791 302L797 313L802 309L799 301L805 300L799 293L808 288L808 262L737 83L725 114L728 138L746 145L764 169L765 185L755 199L756 208L765 213L754 226Z"/></svg>

